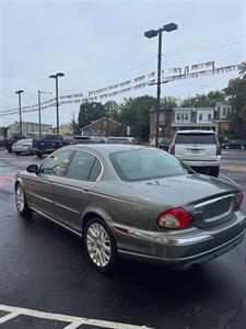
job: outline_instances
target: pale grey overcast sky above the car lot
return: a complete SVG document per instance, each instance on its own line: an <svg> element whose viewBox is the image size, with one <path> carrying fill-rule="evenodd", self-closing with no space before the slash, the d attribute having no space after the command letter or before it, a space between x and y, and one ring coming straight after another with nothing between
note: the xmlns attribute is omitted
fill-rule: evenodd
<svg viewBox="0 0 246 329"><path fill-rule="evenodd" d="M245 1L2 1L0 0L0 111L37 102L37 90L54 91L49 75L65 72L59 93L86 92L156 70L157 38L144 31L175 22L163 34L163 68L214 60L238 64L246 55ZM162 97L186 98L224 88L237 72L162 86ZM202 87L203 86L203 87ZM124 94L156 94L156 87ZM47 95L42 95L46 100ZM121 101L121 98L113 100ZM79 105L60 106L60 122ZM19 116L0 116L0 126ZM43 122L56 124L55 107ZM37 122L37 113L23 114Z"/></svg>

